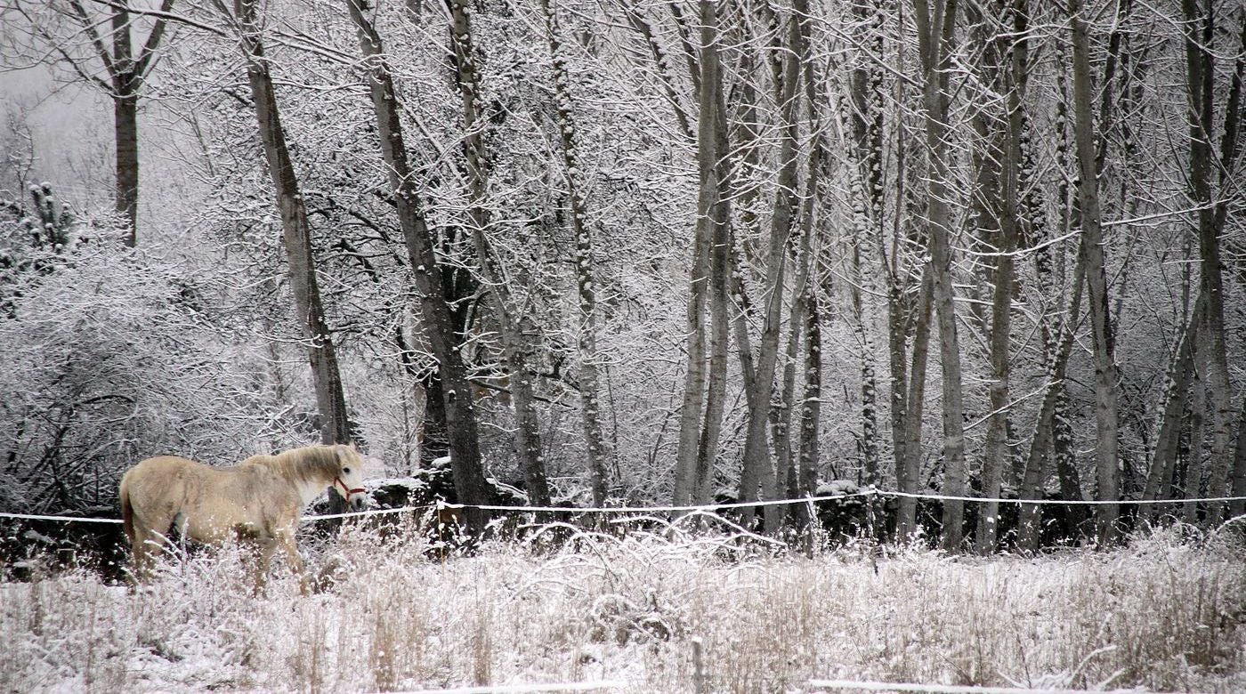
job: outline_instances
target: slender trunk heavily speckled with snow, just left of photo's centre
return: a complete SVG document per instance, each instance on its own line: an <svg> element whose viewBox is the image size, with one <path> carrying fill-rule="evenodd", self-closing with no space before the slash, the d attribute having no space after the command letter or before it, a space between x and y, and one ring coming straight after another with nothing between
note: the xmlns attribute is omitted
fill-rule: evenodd
<svg viewBox="0 0 1246 694"><path fill-rule="evenodd" d="M562 135L562 158L566 166L567 189L571 197L571 229L576 235L576 288L579 294L579 402L588 446L588 468L592 476L593 506L606 505L607 468L606 436L601 421L601 386L597 370L597 290L593 283L593 238L588 222L588 201L578 172L579 130L572 112L567 71L567 55L562 47L558 17L548 0L542 0L546 27L549 35L549 54L553 56L554 106L558 111L558 132Z"/></svg>

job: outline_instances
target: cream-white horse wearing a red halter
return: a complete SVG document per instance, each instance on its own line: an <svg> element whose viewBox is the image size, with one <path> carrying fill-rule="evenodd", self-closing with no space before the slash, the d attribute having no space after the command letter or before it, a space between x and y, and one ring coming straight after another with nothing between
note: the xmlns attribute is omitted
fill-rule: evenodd
<svg viewBox="0 0 1246 694"><path fill-rule="evenodd" d="M275 456L249 457L213 467L177 456L147 459L121 478L121 517L135 556L135 577L151 574L153 553L169 531L194 542L227 540L259 548L257 591L264 586L279 546L307 592L304 564L294 541L299 516L325 487L361 508L363 460L351 446L305 446Z"/></svg>

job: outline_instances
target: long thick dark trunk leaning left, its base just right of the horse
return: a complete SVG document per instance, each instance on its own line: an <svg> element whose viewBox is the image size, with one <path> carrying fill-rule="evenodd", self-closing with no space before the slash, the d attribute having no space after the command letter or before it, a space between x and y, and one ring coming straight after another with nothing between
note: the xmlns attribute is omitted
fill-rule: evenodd
<svg viewBox="0 0 1246 694"><path fill-rule="evenodd" d="M238 0L252 1L252 0ZM360 0L346 0L351 20L359 32L359 45L368 70L368 86L380 137L381 154L389 173L394 202L397 207L399 226L406 242L411 269L420 303L424 329L437 359L441 373L442 401L449 429L450 466L459 501L468 505L464 510L467 530L481 533L488 513L478 506L488 503L488 487L480 460L480 437L476 429L476 410L472 402L467 369L459 351L459 340L451 320L450 307L442 289L442 275L437 268L432 234L416 191L415 172L407 161L402 138L401 105L394 91L394 81L385 62L381 39L364 15Z"/></svg>

